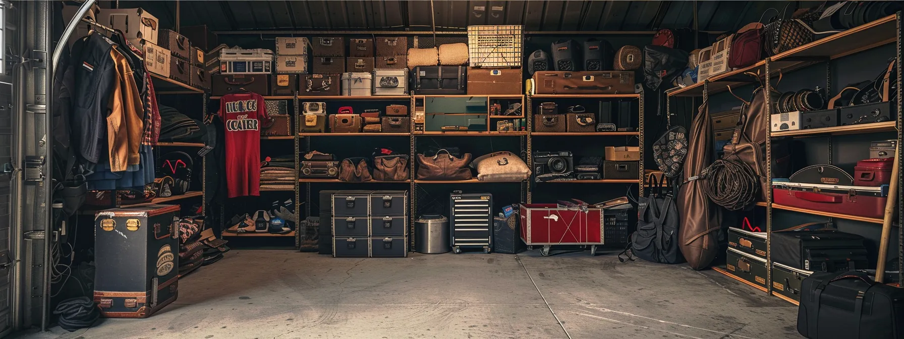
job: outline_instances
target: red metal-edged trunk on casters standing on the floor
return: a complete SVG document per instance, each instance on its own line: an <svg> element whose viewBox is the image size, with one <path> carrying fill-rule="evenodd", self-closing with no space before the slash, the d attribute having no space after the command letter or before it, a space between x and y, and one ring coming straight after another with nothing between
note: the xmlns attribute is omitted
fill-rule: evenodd
<svg viewBox="0 0 904 339"><path fill-rule="evenodd" d="M556 203L525 203L519 208L521 240L533 245L602 244L603 211L569 208Z"/></svg>

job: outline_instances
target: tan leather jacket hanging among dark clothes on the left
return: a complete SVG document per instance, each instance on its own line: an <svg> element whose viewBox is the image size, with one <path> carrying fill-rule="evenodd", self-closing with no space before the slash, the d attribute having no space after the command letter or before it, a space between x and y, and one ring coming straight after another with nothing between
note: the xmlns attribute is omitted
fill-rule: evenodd
<svg viewBox="0 0 904 339"><path fill-rule="evenodd" d="M141 161L138 151L144 132L145 110L126 56L114 48L110 57L117 71L117 81L108 104L107 147L110 171L122 172L128 165L138 165Z"/></svg>

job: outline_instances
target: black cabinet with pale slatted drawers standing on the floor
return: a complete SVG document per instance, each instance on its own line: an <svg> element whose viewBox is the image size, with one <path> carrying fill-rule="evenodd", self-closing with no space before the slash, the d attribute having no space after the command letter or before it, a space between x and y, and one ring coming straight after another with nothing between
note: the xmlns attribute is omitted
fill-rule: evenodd
<svg viewBox="0 0 904 339"><path fill-rule="evenodd" d="M450 196L449 225L452 250L484 249L493 246L493 194L453 192Z"/></svg>

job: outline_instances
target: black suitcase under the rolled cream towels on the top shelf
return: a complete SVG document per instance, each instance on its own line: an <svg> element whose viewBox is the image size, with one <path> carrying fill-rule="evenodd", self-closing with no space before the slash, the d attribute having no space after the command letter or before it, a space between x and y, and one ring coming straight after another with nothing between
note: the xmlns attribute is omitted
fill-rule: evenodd
<svg viewBox="0 0 904 339"><path fill-rule="evenodd" d="M418 66L410 71L410 89L415 94L466 94L467 67Z"/></svg>

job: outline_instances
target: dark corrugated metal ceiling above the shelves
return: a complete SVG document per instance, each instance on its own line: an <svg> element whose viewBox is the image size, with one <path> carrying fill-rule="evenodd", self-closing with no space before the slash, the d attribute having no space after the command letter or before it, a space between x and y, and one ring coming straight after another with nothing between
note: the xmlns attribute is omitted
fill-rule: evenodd
<svg viewBox="0 0 904 339"><path fill-rule="evenodd" d="M122 7L139 6L118 2ZM757 21L774 1L180 1L182 26L213 31L438 31L473 24L523 24L525 31L651 31L691 27L734 31ZM802 2L802 6L819 2ZM809 4L808 4L809 3ZM141 2L163 27L175 23L175 1ZM432 18L430 13L433 13ZM739 20L740 19L740 20Z"/></svg>

